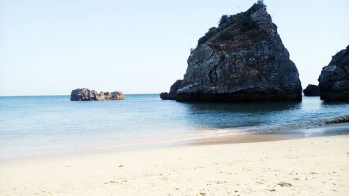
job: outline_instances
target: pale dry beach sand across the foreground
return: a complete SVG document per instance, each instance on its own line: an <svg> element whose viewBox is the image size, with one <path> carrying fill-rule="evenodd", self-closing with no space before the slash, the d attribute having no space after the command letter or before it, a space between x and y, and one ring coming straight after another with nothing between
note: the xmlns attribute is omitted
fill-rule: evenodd
<svg viewBox="0 0 349 196"><path fill-rule="evenodd" d="M349 195L349 135L3 161L0 195Z"/></svg>

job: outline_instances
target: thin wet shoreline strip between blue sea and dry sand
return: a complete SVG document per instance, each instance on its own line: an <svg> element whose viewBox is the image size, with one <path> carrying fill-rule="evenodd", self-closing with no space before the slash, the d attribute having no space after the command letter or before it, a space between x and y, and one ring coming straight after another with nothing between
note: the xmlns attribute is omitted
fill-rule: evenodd
<svg viewBox="0 0 349 196"><path fill-rule="evenodd" d="M162 149L176 146L198 146L211 144L239 144L251 142L271 142L279 140L293 140L307 137L323 137L332 135L349 134L349 122L332 123L313 128L300 128L295 130L285 130L270 133L234 133L230 129L221 129L221 132L215 130L202 130L204 133L189 134L188 137L178 137L174 140L154 140L141 144L126 144L120 146L113 146L112 143L104 143L103 145L94 144L94 148L74 148L70 151L54 151L50 153L31 154L30 156L15 156L0 158L1 162L8 162L13 160L29 160L36 158L52 158L62 156L77 156L91 153L105 153L114 151L137 151L142 149ZM209 131L209 132L205 132ZM226 132L226 133L225 133ZM218 134L217 134L218 133Z"/></svg>

